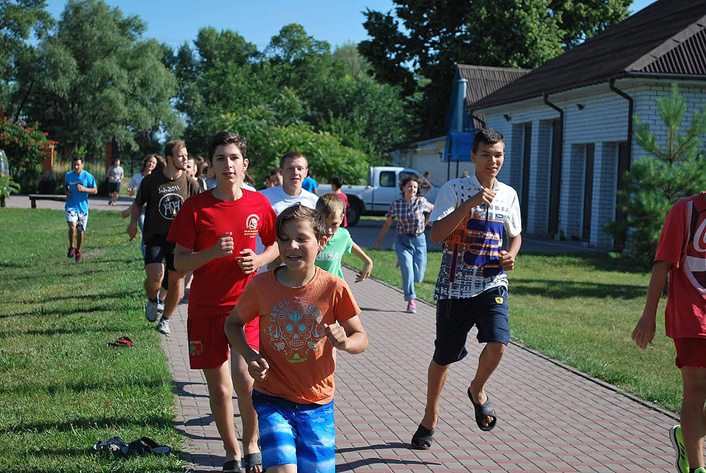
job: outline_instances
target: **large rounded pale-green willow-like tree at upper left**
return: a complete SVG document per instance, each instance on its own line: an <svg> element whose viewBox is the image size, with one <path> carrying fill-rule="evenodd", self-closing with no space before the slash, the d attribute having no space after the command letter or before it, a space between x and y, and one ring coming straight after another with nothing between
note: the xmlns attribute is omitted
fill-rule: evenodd
<svg viewBox="0 0 706 473"><path fill-rule="evenodd" d="M145 23L100 0L69 0L53 35L39 47L22 115L61 142L61 154L85 147L102 156L113 138L121 149L155 149L157 135L180 133L172 109L174 75L164 47L143 40ZM20 113L20 112L18 112Z"/></svg>

